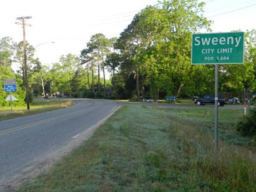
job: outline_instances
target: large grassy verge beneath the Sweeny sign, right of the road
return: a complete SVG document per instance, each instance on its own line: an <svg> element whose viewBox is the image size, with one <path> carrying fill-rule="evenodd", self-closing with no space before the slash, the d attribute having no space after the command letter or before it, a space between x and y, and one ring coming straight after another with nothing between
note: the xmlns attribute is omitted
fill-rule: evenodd
<svg viewBox="0 0 256 192"><path fill-rule="evenodd" d="M127 105L52 170L18 191L256 191L256 145L220 110L220 151L212 153L214 110Z"/></svg>

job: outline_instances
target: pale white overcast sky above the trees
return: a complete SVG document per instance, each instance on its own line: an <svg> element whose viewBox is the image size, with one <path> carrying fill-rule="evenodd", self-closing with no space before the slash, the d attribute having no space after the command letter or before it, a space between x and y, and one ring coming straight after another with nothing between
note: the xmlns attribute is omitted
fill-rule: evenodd
<svg viewBox="0 0 256 192"><path fill-rule="evenodd" d="M204 2L204 16L213 21L213 32L256 28L256 0ZM9 36L22 41L22 28L15 24L16 17L32 16L27 21L31 26L26 27L26 39L36 47L36 57L42 64L51 65L63 54L79 55L96 33L118 37L137 12L155 4L157 0L2 1L0 38Z"/></svg>

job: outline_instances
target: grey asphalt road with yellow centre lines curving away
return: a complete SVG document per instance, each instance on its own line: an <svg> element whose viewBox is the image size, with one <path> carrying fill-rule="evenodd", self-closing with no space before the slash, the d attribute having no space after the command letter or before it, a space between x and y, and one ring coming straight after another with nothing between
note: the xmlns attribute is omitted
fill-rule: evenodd
<svg viewBox="0 0 256 192"><path fill-rule="evenodd" d="M69 108L0 122L0 186L38 168L121 105L110 100L75 102Z"/></svg>

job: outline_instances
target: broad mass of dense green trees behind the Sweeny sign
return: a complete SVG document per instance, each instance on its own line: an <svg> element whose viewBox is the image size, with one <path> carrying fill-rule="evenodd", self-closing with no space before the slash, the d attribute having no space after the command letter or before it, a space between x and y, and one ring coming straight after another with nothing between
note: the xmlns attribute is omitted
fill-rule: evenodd
<svg viewBox="0 0 256 192"><path fill-rule="evenodd" d="M214 93L214 66L190 64L192 32L210 31L211 22L203 16L203 8L204 2L196 0L162 1L134 16L106 60L112 70L112 89L116 90L117 98ZM255 30L245 33L244 64L220 66L220 91L256 90L255 34ZM126 90L126 94L119 94L118 90Z"/></svg>

